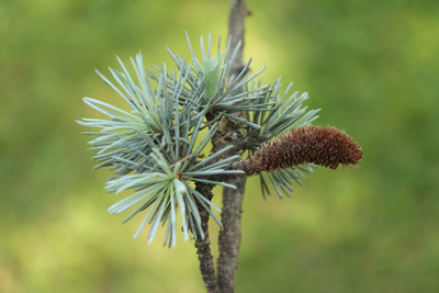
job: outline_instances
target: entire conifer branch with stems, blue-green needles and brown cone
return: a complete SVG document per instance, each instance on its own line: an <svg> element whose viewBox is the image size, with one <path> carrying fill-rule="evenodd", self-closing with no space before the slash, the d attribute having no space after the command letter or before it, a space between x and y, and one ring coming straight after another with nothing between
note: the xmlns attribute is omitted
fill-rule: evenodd
<svg viewBox="0 0 439 293"><path fill-rule="evenodd" d="M302 184L301 171L311 171L312 165L336 169L358 165L362 158L361 146L344 132L311 126L318 110L302 108L306 92L289 94L290 83L282 94L280 79L272 84L254 82L263 69L250 75L250 61L243 63L244 19L249 14L245 0L233 0L226 50L221 52L218 42L217 52L211 54L211 36L207 46L201 37L199 59L187 35L192 63L168 49L176 64L172 72L166 65L156 67L158 74L146 68L138 54L131 59L133 74L117 58L122 70L110 68L114 81L98 75L128 109L85 98L106 119L78 121L98 129L86 134L95 136L90 140L91 149L98 151L95 168L114 170L106 190L116 194L134 191L109 212L134 209L124 223L144 213L134 237L148 224L148 244L165 226L164 245L175 247L181 224L184 240L193 235L207 292L235 290L247 176L260 176L266 196L269 188L262 174L267 174L282 198L292 191L293 180ZM211 154L203 157L209 143ZM249 156L241 160L245 150ZM222 221L214 213L219 209L211 201L215 185L224 187ZM210 218L222 228L217 274Z"/></svg>

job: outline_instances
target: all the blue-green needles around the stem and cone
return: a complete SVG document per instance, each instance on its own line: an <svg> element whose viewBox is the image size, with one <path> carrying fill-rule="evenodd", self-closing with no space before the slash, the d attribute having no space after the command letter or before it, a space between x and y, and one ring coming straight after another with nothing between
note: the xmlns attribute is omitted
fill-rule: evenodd
<svg viewBox="0 0 439 293"><path fill-rule="evenodd" d="M212 212L219 209L192 188L191 182L235 188L221 180L205 177L243 172L225 168L239 156L221 158L233 146L201 159L204 148L217 131L217 121L222 116L236 120L250 128L247 138L254 142L249 146L249 149L254 150L274 135L294 126L308 124L316 113L316 111L306 113L306 109L300 109L306 100L306 94L297 97L295 92L285 99L286 90L280 95L279 80L273 87L269 84L255 87L252 80L262 70L252 76L247 75L250 61L237 77L229 80L230 66L239 48L230 53L230 42L222 53L218 41L217 52L212 56L211 36L206 48L201 37L202 59L199 60L188 35L187 41L192 64L168 49L177 66L177 70L175 69L172 74L168 72L166 64L157 67L159 75L145 68L140 54L136 60L131 59L136 81L120 58L117 60L122 71L110 68L117 86L98 72L130 105L131 112L85 98L88 105L109 119L78 121L81 125L100 129L86 134L97 136L90 142L91 149L98 150L98 155L93 158L100 164L95 168L109 167L110 170L115 170L115 176L108 180L106 190L115 193L135 190L133 195L112 205L109 212L121 213L139 205L125 219L126 222L138 212L149 209L134 237L136 238L148 223L151 225L148 234L151 244L161 224L167 226L165 245L168 244L169 247L176 246L177 213L180 214L185 240L189 239L190 230L195 239L199 235L204 238L199 206L205 209L221 226L221 221ZM150 79L155 81L156 88L151 86ZM254 117L252 122L232 115L237 111L248 112L249 116ZM207 134L200 139L199 135L207 126ZM299 169L309 170L293 167L269 174L280 196L282 191L292 191L290 188L292 179L300 182ZM260 178L264 195L268 185L263 177Z"/></svg>

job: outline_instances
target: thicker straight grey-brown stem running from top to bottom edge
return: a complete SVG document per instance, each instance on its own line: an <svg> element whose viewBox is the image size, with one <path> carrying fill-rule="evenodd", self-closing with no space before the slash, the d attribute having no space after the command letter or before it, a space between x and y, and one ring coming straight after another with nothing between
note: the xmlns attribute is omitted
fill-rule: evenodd
<svg viewBox="0 0 439 293"><path fill-rule="evenodd" d="M229 78L237 77L243 70L243 48L244 48L244 19L249 14L245 0L233 0L230 8L230 15L228 20L228 29L232 46L232 52L235 49L237 44L240 42L239 50L236 55ZM235 129L228 129L230 133L236 132ZM230 142L232 143L232 142ZM239 154L239 149L236 149L234 154L227 154L233 156ZM235 273L238 268L239 247L240 247L240 214L244 200L246 177L233 179L229 183L236 185L235 189L224 188L223 190L223 211L222 211L222 223L223 229L219 232L218 237L218 288L222 293L235 292Z"/></svg>

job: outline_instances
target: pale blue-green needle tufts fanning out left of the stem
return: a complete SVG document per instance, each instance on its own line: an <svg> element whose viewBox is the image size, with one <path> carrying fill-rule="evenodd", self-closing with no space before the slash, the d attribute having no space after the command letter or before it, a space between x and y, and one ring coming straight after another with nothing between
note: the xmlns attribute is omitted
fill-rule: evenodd
<svg viewBox="0 0 439 293"><path fill-rule="evenodd" d="M109 120L78 121L81 125L101 129L98 133L87 134L98 136L90 142L92 149L99 150L93 158L102 161L97 168L116 169L115 176L109 180L108 191L116 193L128 189L136 191L133 195L112 205L109 212L121 213L144 201L125 222L149 207L135 235L137 237L145 224L150 223L153 226L148 234L149 244L161 223L168 225L165 244L176 246L177 210L181 216L184 239L189 239L189 229L195 238L199 234L204 237L198 204L203 206L221 225L211 212L211 207L217 211L218 209L194 190L189 180L200 181L202 179L199 177L203 174L238 173L239 171L222 169L229 160L236 159L236 156L218 164L206 165L221 155L216 153L200 162L196 161L215 134L216 126L212 125L207 134L196 144L200 132L205 127L204 114L212 109L209 106L194 109L193 103L179 103L188 76L191 74L190 68L179 70L179 75L167 75L166 66L164 66L160 68L159 77L153 75L158 83L157 89L153 90L140 54L137 55L136 63L131 59L139 86L136 86L123 63L120 59L119 61L123 72L112 68L110 71L122 90L101 74L99 75L130 104L131 113L111 104L85 98L87 104L108 115ZM206 76L216 79L210 72L207 71ZM209 88L210 80L207 78L204 80L204 87ZM201 87L198 90L204 92ZM209 101L206 104L210 104ZM192 113L195 111L201 111L201 113L193 116ZM210 183L233 187L217 181Z"/></svg>

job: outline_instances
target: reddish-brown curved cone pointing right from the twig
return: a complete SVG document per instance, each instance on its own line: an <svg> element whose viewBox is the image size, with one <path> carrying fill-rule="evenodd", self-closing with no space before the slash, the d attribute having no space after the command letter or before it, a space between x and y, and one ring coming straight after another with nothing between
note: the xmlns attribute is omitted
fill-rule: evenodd
<svg viewBox="0 0 439 293"><path fill-rule="evenodd" d="M329 126L304 126L271 138L236 167L247 174L308 162L336 169L357 165L361 158L361 146L346 133Z"/></svg>

